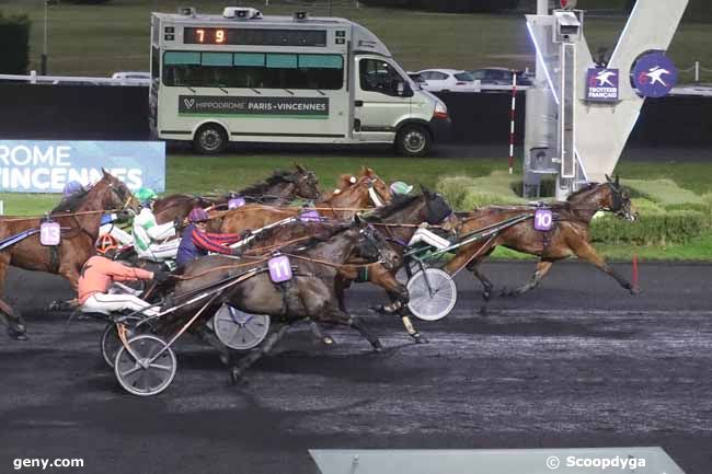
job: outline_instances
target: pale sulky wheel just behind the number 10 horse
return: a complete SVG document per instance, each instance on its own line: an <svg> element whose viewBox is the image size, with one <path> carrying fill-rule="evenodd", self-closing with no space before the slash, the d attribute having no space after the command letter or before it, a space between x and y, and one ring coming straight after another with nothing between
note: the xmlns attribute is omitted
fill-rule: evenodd
<svg viewBox="0 0 712 474"><path fill-rule="evenodd" d="M437 321L450 314L458 300L455 281L439 268L426 268L407 280L411 297L407 308L425 321Z"/></svg>

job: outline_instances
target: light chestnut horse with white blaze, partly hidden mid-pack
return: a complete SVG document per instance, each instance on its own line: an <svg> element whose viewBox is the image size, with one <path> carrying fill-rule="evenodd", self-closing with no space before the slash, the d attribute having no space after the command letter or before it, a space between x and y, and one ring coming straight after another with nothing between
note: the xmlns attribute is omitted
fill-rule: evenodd
<svg viewBox="0 0 712 474"><path fill-rule="evenodd" d="M376 197L374 197L376 196ZM315 204L319 213L332 219L351 219L361 209L387 204L392 199L388 184L371 169L364 169L361 176L340 193ZM298 207L272 207L246 205L211 219L210 228L220 232L238 233L245 230L262 229L301 213Z"/></svg>

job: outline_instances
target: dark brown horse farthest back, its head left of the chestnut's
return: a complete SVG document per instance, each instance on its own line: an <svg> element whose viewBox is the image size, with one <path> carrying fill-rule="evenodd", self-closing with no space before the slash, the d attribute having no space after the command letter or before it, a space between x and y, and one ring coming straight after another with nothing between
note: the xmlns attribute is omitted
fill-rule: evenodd
<svg viewBox="0 0 712 474"><path fill-rule="evenodd" d="M158 223L183 220L195 207L220 207L233 196L259 203L279 204L294 199L315 200L321 197L319 180L313 171L296 164L296 171L275 171L262 183L253 184L237 193L217 197L172 194L153 204L153 215Z"/></svg>

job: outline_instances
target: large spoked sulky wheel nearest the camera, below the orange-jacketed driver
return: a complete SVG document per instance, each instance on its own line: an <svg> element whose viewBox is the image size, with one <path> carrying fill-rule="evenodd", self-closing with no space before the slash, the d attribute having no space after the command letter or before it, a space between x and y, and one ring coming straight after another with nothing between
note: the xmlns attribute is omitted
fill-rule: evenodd
<svg viewBox="0 0 712 474"><path fill-rule="evenodd" d="M127 345L128 350L122 346L114 363L118 383L128 393L138 396L158 395L168 389L177 370L173 349L166 347L163 339L150 334L136 336Z"/></svg>

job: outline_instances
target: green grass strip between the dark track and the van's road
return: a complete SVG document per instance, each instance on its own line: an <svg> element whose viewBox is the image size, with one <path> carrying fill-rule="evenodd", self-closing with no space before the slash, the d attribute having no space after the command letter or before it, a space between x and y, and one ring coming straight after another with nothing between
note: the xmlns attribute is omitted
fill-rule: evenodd
<svg viewBox="0 0 712 474"><path fill-rule="evenodd" d="M286 153L285 153L286 154ZM383 153L387 154L387 153ZM172 154L168 158L166 193L207 193L230 190L248 186L264 178L273 170L288 169L292 155L240 154L197 157ZM356 173L363 165L376 170L387 182L405 181L435 188L444 176L487 176L495 170L506 171L507 160L494 159L404 159L378 155L372 152L355 154L298 154L297 161L313 170L325 190L331 190L342 173ZM516 173L519 171L517 170ZM668 178L697 195L712 193L712 165L705 163L621 163L617 170L630 180ZM58 195L0 194L5 215L42 215L58 201ZM634 226L634 224L631 224ZM694 238L679 245L597 244L598 248L617 261L630 261L634 254L646 261L712 261L712 235ZM495 257L529 258L507 250L497 250Z"/></svg>

